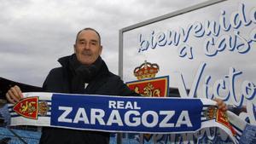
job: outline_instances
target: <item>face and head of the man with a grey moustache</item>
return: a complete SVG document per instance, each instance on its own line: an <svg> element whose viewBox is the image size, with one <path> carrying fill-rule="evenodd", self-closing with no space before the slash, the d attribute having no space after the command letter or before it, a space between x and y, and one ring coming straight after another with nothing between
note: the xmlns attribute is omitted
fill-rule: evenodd
<svg viewBox="0 0 256 144"><path fill-rule="evenodd" d="M102 54L102 46L96 32L84 30L79 33L77 42L74 44L74 52L84 65L91 65Z"/></svg>

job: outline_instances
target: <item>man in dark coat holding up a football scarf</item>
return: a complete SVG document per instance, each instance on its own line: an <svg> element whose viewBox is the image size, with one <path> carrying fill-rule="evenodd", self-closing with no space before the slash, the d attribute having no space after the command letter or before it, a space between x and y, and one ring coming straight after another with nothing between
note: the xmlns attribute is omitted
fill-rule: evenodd
<svg viewBox="0 0 256 144"><path fill-rule="evenodd" d="M49 72L43 88L49 92L89 94L89 95L137 95L112 72L101 58L101 37L96 30L85 28L77 34L74 44L74 55L66 56L58 61L61 67ZM16 103L22 98L18 86L9 89L8 101ZM218 106L225 110L223 101ZM108 144L109 134L82 130L44 128L41 144Z"/></svg>

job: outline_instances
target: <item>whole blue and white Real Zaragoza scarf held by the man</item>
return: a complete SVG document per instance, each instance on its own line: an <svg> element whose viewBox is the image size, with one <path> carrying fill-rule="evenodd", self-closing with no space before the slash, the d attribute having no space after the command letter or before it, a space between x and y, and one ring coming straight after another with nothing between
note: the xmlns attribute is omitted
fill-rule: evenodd
<svg viewBox="0 0 256 144"><path fill-rule="evenodd" d="M19 103L9 105L13 126L151 134L190 133L218 127L236 143L247 127L231 112L229 123L226 114L218 111L216 102L207 99L56 93L24 96Z"/></svg>

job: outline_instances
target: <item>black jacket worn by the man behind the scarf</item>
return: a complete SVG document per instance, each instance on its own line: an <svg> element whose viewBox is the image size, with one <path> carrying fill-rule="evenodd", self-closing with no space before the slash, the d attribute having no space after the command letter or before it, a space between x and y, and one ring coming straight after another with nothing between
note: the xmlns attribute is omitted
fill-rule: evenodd
<svg viewBox="0 0 256 144"><path fill-rule="evenodd" d="M44 81L44 90L56 93L80 93L89 95L137 95L132 92L124 82L112 72L108 71L108 66L102 60L102 65L84 89L75 74L70 69L71 56L58 60L61 67L54 68ZM73 83L79 89L73 89ZM72 98L72 97L71 97ZM44 128L40 139L40 144L108 144L109 133L68 130L60 128Z"/></svg>

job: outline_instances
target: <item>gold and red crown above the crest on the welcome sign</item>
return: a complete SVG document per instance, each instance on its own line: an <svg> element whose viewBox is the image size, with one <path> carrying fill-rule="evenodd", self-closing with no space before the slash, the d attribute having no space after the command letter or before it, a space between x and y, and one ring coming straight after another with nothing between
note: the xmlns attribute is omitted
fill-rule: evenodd
<svg viewBox="0 0 256 144"><path fill-rule="evenodd" d="M133 74L138 80L143 78L154 78L155 74L159 72L159 66L157 64L151 64L145 60L145 62L134 69Z"/></svg>

